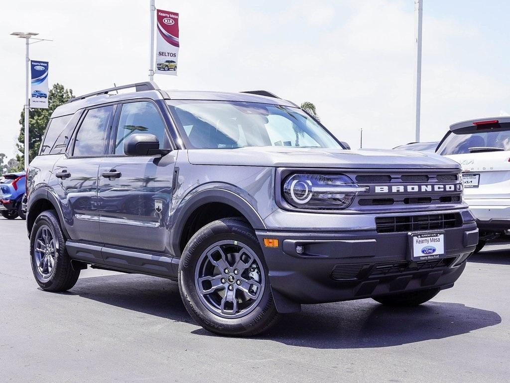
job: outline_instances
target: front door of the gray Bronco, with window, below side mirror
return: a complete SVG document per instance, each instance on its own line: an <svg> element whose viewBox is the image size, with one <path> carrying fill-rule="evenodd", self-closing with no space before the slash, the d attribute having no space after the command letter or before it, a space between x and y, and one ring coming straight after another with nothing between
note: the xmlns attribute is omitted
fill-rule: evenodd
<svg viewBox="0 0 510 383"><path fill-rule="evenodd" d="M160 149L172 149L157 107L149 101L124 103L111 155L99 166L99 230L108 246L169 254L172 179L177 152L166 156L126 156L124 140L154 134Z"/></svg>

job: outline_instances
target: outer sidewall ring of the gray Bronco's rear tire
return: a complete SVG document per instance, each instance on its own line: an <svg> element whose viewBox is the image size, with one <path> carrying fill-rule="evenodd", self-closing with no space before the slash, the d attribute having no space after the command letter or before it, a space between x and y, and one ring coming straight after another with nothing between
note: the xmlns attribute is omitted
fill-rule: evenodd
<svg viewBox="0 0 510 383"><path fill-rule="evenodd" d="M55 264L52 274L50 274L48 278L43 278L43 276L39 274L37 265L35 265L34 262L35 237L41 226L48 226L52 229L53 234L55 234L55 245L58 246L58 249L55 251ZM32 231L30 232L30 264L32 265L34 277L41 288L51 289L55 287L58 283L56 280L56 274L59 272L59 268L61 267L60 264L65 261L65 257L67 257L65 238L62 230L60 229L60 225L52 212L43 211L39 217L36 218Z"/></svg>

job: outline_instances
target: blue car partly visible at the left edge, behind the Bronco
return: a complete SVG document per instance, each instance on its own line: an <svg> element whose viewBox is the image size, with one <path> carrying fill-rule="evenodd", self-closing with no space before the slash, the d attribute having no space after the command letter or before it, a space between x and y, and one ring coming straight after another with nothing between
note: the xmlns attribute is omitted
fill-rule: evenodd
<svg viewBox="0 0 510 383"><path fill-rule="evenodd" d="M25 219L21 200L25 194L24 172L4 174L0 178L0 213L4 218L13 220L16 217Z"/></svg>

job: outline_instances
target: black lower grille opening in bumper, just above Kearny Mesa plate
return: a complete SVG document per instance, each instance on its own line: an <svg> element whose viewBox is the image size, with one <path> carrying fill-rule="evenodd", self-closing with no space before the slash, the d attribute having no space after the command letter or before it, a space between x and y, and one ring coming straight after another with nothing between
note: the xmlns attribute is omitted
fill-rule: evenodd
<svg viewBox="0 0 510 383"><path fill-rule="evenodd" d="M459 213L429 214L427 216L377 217L375 227L378 233L402 231L440 230L461 226Z"/></svg>

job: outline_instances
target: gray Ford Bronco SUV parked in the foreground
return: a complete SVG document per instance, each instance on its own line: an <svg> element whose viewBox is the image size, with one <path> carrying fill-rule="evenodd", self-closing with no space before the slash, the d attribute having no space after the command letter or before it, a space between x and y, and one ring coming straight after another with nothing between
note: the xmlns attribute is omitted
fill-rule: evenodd
<svg viewBox="0 0 510 383"><path fill-rule="evenodd" d="M478 242L460 173L347 150L266 91L105 89L58 107L30 164L32 269L47 291L87 267L176 280L193 319L230 336L303 303L418 305Z"/></svg>

